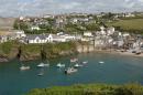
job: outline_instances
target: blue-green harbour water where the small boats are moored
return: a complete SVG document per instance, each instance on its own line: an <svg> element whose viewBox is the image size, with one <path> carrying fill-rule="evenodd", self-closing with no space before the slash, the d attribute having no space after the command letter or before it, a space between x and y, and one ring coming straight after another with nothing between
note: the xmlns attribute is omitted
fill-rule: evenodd
<svg viewBox="0 0 143 95"><path fill-rule="evenodd" d="M32 88L65 86L73 84L124 84L139 82L143 84L142 57L110 53L82 53L77 55L79 62L88 61L73 74L65 74L70 67L70 57L50 60L48 67L37 67L41 61L23 62L30 66L28 71L20 71L19 61L0 64L0 95L21 95ZM57 64L65 67L57 67ZM86 62L85 62L86 63Z"/></svg>

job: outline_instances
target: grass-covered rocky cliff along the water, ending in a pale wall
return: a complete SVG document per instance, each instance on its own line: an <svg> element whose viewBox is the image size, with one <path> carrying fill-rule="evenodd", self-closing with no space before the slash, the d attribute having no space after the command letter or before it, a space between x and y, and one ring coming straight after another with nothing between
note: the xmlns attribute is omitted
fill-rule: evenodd
<svg viewBox="0 0 143 95"><path fill-rule="evenodd" d="M77 42L56 44L21 44L18 42L7 42L0 44L0 62L8 62L13 59L19 59L20 61L45 60L92 51L95 51L94 45Z"/></svg>

